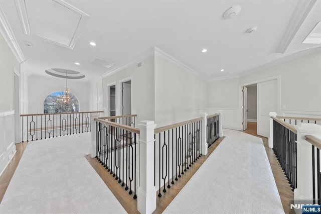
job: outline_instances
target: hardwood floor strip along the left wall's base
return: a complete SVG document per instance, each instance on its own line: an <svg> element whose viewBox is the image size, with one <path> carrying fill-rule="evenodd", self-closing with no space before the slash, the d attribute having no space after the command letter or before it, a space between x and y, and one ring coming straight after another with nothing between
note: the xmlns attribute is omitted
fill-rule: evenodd
<svg viewBox="0 0 321 214"><path fill-rule="evenodd" d="M7 188L9 186L9 183L11 181L12 176L14 175L17 166L19 164L19 161L24 154L24 151L27 147L28 142L23 142L16 144L16 154L13 157L13 159L9 162L7 168L4 170L2 175L0 176L0 203L2 199L4 198L4 195L7 191Z"/></svg>

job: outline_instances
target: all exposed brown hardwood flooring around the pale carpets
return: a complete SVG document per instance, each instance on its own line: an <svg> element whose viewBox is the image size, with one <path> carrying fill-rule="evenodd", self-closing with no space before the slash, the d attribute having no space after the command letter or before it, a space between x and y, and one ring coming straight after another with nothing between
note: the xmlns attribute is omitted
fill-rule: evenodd
<svg viewBox="0 0 321 214"><path fill-rule="evenodd" d="M247 134L256 135L256 123L248 122L248 128L244 131ZM261 137L261 136L257 136ZM293 192L284 176L284 173L274 155L272 149L268 148L267 138L261 137L264 142L265 150L271 164L272 172L275 178L276 186L278 188L282 205L285 213L289 212L289 201L293 199ZM172 188L163 194L161 198L157 197L157 208L154 213L162 213L163 210L170 204L170 202L174 199L174 197L179 193L179 191L185 186L187 181L195 174L195 172L199 169L202 163L206 160L206 158L214 151L214 149L219 145L222 139L219 139L215 144L209 149L209 153L207 156L202 156L193 167L191 167L190 171L185 173L185 175L172 186ZM15 154L12 161L9 163L8 167L4 170L3 174L0 176L0 202L2 201L5 192L8 188L8 185L11 181L11 178L16 171L16 168L19 164L19 161L23 155L23 152L26 149L27 142L16 144L17 153ZM128 213L138 213L137 211L137 200L132 199L132 195L129 195L121 185L118 184L116 180L110 176L110 174L103 168L101 164L99 164L95 159L90 158L90 156L86 156L89 163L93 166L93 168L97 171L102 180L106 183L108 188L113 192L115 197L119 200L122 206Z"/></svg>

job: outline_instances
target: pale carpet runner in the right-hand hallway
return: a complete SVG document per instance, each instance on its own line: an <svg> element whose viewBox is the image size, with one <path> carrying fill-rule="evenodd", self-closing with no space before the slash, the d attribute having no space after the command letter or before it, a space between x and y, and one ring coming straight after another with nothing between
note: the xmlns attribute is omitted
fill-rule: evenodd
<svg viewBox="0 0 321 214"><path fill-rule="evenodd" d="M262 139L234 130L164 213L284 213Z"/></svg>

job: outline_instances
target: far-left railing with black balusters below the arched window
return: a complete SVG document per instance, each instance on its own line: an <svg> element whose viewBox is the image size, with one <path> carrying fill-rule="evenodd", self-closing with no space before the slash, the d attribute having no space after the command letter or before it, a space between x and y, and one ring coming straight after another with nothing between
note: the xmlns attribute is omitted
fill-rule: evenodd
<svg viewBox="0 0 321 214"><path fill-rule="evenodd" d="M91 114L98 112L27 114L22 118L22 142L91 131Z"/></svg>

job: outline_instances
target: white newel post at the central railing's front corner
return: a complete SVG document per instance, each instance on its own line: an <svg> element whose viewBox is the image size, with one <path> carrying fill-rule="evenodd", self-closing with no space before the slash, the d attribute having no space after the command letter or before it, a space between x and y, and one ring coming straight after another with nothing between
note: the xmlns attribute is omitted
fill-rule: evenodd
<svg viewBox="0 0 321 214"><path fill-rule="evenodd" d="M156 209L154 186L154 129L153 121L140 121L139 139L139 187L137 209L140 213L152 213Z"/></svg>

